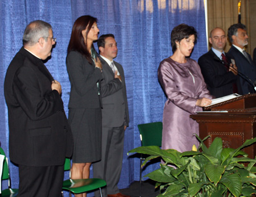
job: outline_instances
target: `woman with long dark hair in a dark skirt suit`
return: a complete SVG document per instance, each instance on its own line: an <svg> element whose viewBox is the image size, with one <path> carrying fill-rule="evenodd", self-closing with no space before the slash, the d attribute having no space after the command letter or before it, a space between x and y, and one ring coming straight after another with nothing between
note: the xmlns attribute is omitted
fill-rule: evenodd
<svg viewBox="0 0 256 197"><path fill-rule="evenodd" d="M68 121L74 137L72 179L89 178L90 165L101 160L102 67L93 48L98 32L96 18L81 16L73 25L68 45L66 64L71 82Z"/></svg>

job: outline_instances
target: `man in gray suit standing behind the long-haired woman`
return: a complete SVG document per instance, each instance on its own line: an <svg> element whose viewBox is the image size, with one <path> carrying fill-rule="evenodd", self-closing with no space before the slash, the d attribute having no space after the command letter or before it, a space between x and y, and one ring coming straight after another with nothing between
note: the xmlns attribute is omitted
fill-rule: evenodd
<svg viewBox="0 0 256 197"><path fill-rule="evenodd" d="M123 140L129 125L125 74L120 64L113 61L117 56L117 43L113 34L98 39L102 64L102 154L101 161L93 165L93 176L105 179L104 196L126 196L119 192L119 181L123 160ZM99 196L98 192L95 193Z"/></svg>

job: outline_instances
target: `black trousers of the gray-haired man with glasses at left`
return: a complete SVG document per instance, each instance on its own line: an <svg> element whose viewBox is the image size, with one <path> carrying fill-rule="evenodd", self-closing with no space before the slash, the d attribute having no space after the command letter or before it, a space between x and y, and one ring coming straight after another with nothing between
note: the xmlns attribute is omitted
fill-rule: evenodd
<svg viewBox="0 0 256 197"><path fill-rule="evenodd" d="M19 197L59 197L64 178L63 166L19 165Z"/></svg>

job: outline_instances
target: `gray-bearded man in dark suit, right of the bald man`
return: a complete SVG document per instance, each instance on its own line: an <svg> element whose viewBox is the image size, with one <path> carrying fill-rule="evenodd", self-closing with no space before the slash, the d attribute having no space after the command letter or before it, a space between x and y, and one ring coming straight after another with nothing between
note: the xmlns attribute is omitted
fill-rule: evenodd
<svg viewBox="0 0 256 197"><path fill-rule="evenodd" d="M256 65L251 60L249 53L246 53L243 49L248 44L246 26L241 23L233 24L228 29L228 37L232 43L228 55L234 58L238 71L242 73L242 77L238 78L241 86L241 89L238 89L238 93L255 93L253 83L256 80Z"/></svg>

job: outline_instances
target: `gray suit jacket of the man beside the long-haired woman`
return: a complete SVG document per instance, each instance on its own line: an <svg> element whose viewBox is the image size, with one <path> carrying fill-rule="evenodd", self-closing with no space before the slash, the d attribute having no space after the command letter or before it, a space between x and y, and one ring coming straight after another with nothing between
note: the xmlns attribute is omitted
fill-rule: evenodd
<svg viewBox="0 0 256 197"><path fill-rule="evenodd" d="M100 57L103 79L101 81L102 97L102 127L120 127L129 125L125 73L120 64L114 61L122 82L114 78L114 73L108 63Z"/></svg>

